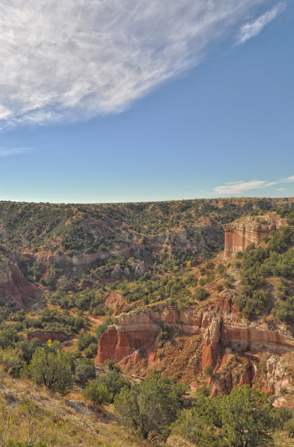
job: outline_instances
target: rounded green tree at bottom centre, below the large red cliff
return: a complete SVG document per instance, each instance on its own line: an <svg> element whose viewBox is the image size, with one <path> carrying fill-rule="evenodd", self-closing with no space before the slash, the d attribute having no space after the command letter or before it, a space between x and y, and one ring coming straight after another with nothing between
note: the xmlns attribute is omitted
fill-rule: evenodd
<svg viewBox="0 0 294 447"><path fill-rule="evenodd" d="M179 408L178 389L160 372L152 372L140 385L124 387L114 399L123 424L147 441L166 442Z"/></svg>

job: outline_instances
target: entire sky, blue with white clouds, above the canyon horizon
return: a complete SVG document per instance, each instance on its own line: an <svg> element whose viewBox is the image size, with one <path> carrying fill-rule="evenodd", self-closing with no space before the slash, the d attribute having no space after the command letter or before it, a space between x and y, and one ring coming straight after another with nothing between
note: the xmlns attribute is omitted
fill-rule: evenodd
<svg viewBox="0 0 294 447"><path fill-rule="evenodd" d="M21 3L0 6L0 199L294 196L291 2Z"/></svg>

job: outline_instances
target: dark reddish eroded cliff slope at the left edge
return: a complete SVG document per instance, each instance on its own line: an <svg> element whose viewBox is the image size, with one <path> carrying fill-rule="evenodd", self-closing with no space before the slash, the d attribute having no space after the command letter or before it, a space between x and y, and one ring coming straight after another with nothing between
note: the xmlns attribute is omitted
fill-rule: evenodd
<svg viewBox="0 0 294 447"><path fill-rule="evenodd" d="M36 299L41 296L41 290L28 282L20 273L18 267L10 264L6 272L0 272L0 299L13 299L25 305L27 298Z"/></svg>

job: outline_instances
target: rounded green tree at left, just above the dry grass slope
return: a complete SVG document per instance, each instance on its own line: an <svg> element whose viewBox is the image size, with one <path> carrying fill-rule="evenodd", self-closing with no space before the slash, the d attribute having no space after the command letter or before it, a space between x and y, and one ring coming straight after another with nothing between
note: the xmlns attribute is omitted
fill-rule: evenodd
<svg viewBox="0 0 294 447"><path fill-rule="evenodd" d="M37 348L28 367L22 372L38 384L62 394L73 386L72 359L68 353L46 352Z"/></svg>

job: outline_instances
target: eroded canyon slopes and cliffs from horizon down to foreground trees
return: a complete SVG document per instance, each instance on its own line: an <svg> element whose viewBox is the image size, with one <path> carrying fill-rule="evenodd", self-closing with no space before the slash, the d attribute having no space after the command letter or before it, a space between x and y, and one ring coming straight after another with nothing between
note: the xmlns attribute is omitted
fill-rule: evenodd
<svg viewBox="0 0 294 447"><path fill-rule="evenodd" d="M212 394L253 384L293 405L292 209L1 202L0 346L59 340L77 361L156 368Z"/></svg>

